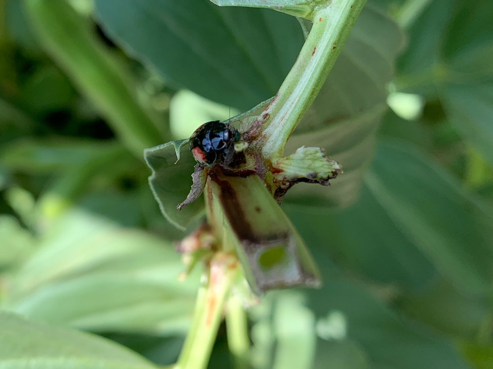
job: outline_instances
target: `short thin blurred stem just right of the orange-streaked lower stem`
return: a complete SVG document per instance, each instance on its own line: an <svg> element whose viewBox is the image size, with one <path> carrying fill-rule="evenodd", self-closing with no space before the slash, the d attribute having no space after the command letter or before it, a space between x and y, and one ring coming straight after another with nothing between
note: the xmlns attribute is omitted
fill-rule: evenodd
<svg viewBox="0 0 493 369"><path fill-rule="evenodd" d="M235 368L248 368L250 338L248 337L246 311L242 301L236 296L231 296L228 300L226 333L229 351L235 359Z"/></svg>

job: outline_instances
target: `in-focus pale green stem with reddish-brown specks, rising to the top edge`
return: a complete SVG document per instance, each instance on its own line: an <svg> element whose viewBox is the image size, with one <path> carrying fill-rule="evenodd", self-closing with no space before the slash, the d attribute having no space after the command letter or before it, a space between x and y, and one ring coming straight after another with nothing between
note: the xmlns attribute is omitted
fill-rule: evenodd
<svg viewBox="0 0 493 369"><path fill-rule="evenodd" d="M366 0L324 1L298 59L272 103L260 116L262 156L281 157L287 139L315 100Z"/></svg>

